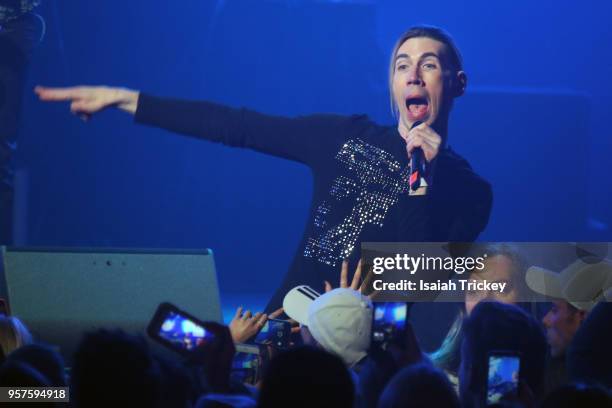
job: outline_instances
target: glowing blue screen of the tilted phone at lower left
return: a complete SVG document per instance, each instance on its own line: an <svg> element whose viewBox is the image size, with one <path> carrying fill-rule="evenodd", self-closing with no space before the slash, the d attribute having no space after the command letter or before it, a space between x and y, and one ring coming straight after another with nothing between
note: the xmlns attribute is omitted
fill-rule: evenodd
<svg viewBox="0 0 612 408"><path fill-rule="evenodd" d="M176 311L169 311L159 326L158 336L182 350L193 350L214 338L210 330Z"/></svg>

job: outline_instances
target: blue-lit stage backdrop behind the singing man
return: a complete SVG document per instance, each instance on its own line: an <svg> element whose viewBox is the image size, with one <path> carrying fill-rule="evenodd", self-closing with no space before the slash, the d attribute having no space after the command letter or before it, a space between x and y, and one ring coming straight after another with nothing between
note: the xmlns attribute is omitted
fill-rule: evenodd
<svg viewBox="0 0 612 408"><path fill-rule="evenodd" d="M592 5L591 5L592 4ZM494 187L483 239L611 240L611 6L520 0L48 1L30 82L108 84L283 115L393 123L387 60L415 23L447 28L470 81L450 144ZM271 294L310 205L307 168L28 97L18 243L204 248L222 297Z"/></svg>

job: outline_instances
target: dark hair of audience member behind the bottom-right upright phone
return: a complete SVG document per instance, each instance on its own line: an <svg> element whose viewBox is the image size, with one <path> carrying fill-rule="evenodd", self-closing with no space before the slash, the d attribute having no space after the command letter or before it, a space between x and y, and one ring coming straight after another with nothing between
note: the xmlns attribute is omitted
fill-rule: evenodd
<svg viewBox="0 0 612 408"><path fill-rule="evenodd" d="M461 400L466 406L484 398L488 355L492 351L519 354L521 380L536 398L541 396L548 344L533 316L514 305L480 302L466 319L463 335L459 384Z"/></svg>

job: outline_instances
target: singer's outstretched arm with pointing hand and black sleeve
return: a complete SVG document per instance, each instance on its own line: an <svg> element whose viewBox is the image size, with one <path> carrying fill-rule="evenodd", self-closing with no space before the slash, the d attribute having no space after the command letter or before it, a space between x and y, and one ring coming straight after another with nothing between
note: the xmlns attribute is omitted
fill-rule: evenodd
<svg viewBox="0 0 612 408"><path fill-rule="evenodd" d="M311 166L333 160L347 135L357 136L369 122L364 116L309 115L296 118L266 115L207 101L159 98L139 91L106 86L36 87L44 101L68 101L73 113L88 119L117 107L137 123L171 132L243 147Z"/></svg>

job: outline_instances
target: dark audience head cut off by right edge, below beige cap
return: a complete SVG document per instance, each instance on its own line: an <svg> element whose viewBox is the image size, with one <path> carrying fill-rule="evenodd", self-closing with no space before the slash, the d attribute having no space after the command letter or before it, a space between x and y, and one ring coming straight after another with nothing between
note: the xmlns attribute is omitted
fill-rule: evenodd
<svg viewBox="0 0 612 408"><path fill-rule="evenodd" d="M589 313L569 346L567 363L573 381L612 388L611 302L601 302Z"/></svg>

